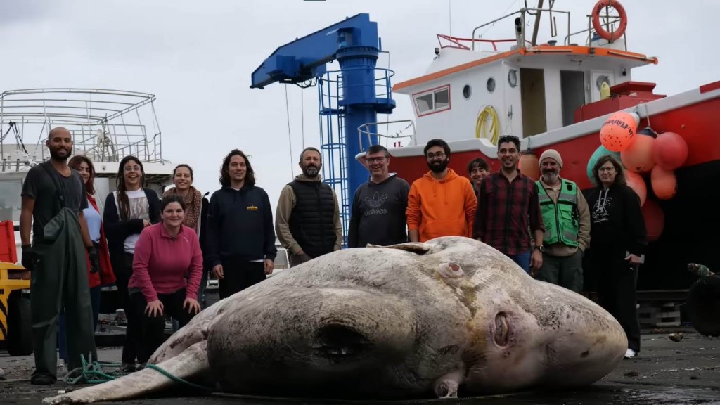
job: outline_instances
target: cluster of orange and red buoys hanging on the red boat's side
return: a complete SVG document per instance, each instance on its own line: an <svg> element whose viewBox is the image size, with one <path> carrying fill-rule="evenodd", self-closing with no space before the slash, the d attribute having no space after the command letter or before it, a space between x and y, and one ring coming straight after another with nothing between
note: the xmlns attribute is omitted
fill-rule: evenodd
<svg viewBox="0 0 720 405"><path fill-rule="evenodd" d="M639 121L634 112L616 112L606 120L600 129L601 145L588 161L588 178L595 184L593 167L601 156L609 154L621 161L629 187L640 197L648 240L654 241L662 233L665 214L656 201L647 198L643 176L649 177L655 197L670 200L678 190L675 169L688 159L688 144L677 133L656 135L649 128L637 131Z"/></svg>

